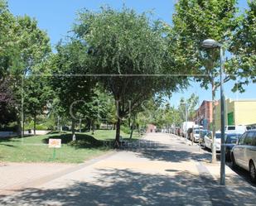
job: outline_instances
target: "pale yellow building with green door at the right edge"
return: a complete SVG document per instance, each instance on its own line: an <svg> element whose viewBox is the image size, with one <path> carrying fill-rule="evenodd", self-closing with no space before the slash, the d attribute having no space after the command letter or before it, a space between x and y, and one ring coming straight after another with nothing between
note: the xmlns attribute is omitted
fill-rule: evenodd
<svg viewBox="0 0 256 206"><path fill-rule="evenodd" d="M255 125L256 99L225 101L225 125ZM216 107L216 130L220 130L220 103Z"/></svg>

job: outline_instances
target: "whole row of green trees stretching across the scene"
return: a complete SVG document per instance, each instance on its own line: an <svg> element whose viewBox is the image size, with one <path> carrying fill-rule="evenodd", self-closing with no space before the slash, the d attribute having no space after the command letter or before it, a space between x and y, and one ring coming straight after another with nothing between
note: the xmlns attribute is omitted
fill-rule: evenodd
<svg viewBox="0 0 256 206"><path fill-rule="evenodd" d="M142 117L145 100L171 96L191 79L210 85L215 101L220 56L201 47L207 38L231 54L225 81L237 79L234 89L243 92L255 76L255 5L239 11L235 0L181 0L171 26L127 7L83 9L52 52L36 20L14 17L0 0L0 124L17 122L22 135L26 122L36 131L45 115L57 129L70 123L75 140L75 125L107 122L118 145L122 122Z"/></svg>

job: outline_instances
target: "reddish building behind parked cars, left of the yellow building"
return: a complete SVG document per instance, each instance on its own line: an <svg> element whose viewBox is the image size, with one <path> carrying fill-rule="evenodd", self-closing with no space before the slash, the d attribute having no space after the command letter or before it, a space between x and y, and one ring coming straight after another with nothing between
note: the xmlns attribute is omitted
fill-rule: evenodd
<svg viewBox="0 0 256 206"><path fill-rule="evenodd" d="M194 117L196 124L203 126L204 129L210 129L212 122L212 102L204 100L200 104L200 108L196 110L196 117Z"/></svg>

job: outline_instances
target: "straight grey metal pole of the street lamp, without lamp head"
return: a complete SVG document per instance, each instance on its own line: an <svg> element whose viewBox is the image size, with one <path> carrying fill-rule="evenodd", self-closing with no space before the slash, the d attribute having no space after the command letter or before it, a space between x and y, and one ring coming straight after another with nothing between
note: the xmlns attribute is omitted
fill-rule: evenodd
<svg viewBox="0 0 256 206"><path fill-rule="evenodd" d="M223 50L220 46L220 109L221 109L221 148L220 148L220 185L225 185L225 95L223 79Z"/></svg>

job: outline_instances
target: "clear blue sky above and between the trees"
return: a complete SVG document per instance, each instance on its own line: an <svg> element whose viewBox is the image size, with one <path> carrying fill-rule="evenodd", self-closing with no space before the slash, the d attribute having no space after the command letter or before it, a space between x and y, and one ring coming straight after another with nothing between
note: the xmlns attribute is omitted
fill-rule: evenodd
<svg viewBox="0 0 256 206"><path fill-rule="evenodd" d="M174 12L174 4L177 0L9 0L10 11L15 15L27 14L35 17L41 29L47 31L51 38L51 45L55 46L61 38L65 38L75 22L76 13L87 8L99 11L100 6L109 5L114 8L133 7L137 12L152 11L154 17L171 23L171 15ZM239 0L239 8L247 7L247 1ZM250 84L245 93L232 93L230 90L234 82L225 84L225 94L228 98L256 98L256 84ZM211 99L210 90L200 89L199 84L193 83L190 89L183 93L174 93L171 103L176 105L181 97L188 98L191 93L200 96L200 102ZM216 98L220 95L217 93Z"/></svg>

